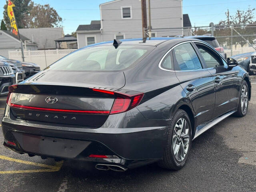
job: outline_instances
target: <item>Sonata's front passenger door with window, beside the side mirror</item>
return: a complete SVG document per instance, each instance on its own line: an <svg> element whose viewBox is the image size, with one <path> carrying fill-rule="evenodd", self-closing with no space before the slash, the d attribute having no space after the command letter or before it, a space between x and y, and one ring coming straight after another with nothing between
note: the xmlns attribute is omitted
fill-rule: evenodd
<svg viewBox="0 0 256 192"><path fill-rule="evenodd" d="M195 43L208 71L215 82L216 100L213 118L218 117L238 105L238 71L228 67L226 61L206 44Z"/></svg>

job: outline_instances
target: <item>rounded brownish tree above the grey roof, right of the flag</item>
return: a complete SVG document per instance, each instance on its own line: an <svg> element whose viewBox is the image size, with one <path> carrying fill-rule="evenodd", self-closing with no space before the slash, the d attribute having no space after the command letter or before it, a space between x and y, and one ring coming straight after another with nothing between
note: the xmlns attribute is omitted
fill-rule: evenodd
<svg viewBox="0 0 256 192"><path fill-rule="evenodd" d="M32 9L25 16L26 28L59 27L62 18L49 4L41 5L31 2Z"/></svg>

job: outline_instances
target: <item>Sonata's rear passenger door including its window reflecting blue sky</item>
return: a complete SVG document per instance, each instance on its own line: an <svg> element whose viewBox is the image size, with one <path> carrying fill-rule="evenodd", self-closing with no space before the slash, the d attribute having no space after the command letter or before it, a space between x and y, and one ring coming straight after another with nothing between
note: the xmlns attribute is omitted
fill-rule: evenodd
<svg viewBox="0 0 256 192"><path fill-rule="evenodd" d="M197 51L190 42L180 44L173 50L174 70L180 85L190 98L197 125L212 119L215 92L210 72L200 61Z"/></svg>

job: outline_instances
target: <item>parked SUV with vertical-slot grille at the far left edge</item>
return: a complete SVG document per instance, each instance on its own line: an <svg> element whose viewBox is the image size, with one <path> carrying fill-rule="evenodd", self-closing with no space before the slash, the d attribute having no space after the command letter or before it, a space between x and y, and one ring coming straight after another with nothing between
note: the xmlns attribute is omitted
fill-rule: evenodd
<svg viewBox="0 0 256 192"><path fill-rule="evenodd" d="M10 65L0 61L0 96L8 94L8 86L16 83L16 76Z"/></svg>

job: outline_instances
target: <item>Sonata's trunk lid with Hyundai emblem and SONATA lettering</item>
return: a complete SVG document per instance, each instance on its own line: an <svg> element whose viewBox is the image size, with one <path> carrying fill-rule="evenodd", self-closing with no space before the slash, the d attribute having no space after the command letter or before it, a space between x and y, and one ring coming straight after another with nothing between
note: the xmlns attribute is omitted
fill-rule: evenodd
<svg viewBox="0 0 256 192"><path fill-rule="evenodd" d="M102 126L115 100L114 93L109 93L125 84L123 72L71 74L55 74L54 78L53 74L42 72L12 86L9 103L12 114L19 119L58 125Z"/></svg>

